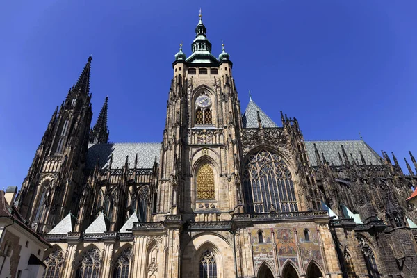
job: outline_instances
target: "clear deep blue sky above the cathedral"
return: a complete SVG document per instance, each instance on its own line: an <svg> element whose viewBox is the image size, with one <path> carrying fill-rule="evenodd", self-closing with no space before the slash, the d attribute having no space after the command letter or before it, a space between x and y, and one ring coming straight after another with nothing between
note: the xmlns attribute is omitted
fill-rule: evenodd
<svg viewBox="0 0 417 278"><path fill-rule="evenodd" d="M198 10L248 90L306 140L358 139L417 156L417 1L1 1L0 188L20 186L56 105L92 54L95 122L112 142L160 142L172 61Z"/></svg>

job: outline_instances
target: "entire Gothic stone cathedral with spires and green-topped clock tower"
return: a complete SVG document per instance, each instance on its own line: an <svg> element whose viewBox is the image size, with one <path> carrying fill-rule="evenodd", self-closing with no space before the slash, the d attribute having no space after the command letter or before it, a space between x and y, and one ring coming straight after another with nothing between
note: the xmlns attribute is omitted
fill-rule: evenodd
<svg viewBox="0 0 417 278"><path fill-rule="evenodd" d="M107 97L90 128L91 57L56 108L15 202L52 245L44 277L417 277L409 164L242 113L201 15L195 33L161 144L108 143Z"/></svg>

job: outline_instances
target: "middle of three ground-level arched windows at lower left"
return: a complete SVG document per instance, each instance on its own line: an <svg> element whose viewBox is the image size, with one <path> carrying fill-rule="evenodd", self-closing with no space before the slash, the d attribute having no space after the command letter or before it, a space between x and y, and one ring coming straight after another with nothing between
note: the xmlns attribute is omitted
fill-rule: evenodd
<svg viewBox="0 0 417 278"><path fill-rule="evenodd" d="M79 268L76 270L76 278L97 278L100 276L101 258L99 250L91 247L81 257Z"/></svg>

